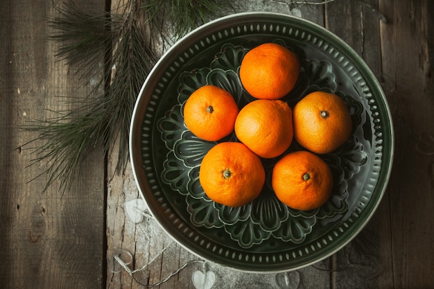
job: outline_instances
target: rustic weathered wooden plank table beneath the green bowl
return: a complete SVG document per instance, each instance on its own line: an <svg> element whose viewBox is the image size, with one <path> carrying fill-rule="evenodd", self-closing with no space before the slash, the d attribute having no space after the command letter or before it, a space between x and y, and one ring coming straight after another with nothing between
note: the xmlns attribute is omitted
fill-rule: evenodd
<svg viewBox="0 0 434 289"><path fill-rule="evenodd" d="M240 12L288 12L272 1L236 2ZM104 1L76 3L89 14L107 9ZM125 216L125 202L139 193L130 166L125 175L114 174L116 150L92 152L64 195L56 186L40 193L44 176L28 182L50 164L26 168L34 156L24 143L37 133L19 126L69 109L59 96L87 94L95 81L74 78L75 71L54 56L46 19L59 5L1 1L0 288L141 288L125 270L113 272L112 253L119 249L132 255L132 269L155 258L134 277L158 283L198 257L173 243L153 218L134 223ZM188 263L157 288L195 288L192 275L205 270L214 273L212 288L434 288L434 2L336 0L299 8L302 17L345 40L383 82L396 146L378 210L340 252L307 268L243 274Z"/></svg>

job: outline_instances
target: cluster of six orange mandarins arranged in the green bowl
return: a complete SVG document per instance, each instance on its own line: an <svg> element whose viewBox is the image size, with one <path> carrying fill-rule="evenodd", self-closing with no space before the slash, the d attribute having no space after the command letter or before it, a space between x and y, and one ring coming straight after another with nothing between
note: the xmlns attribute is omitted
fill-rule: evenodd
<svg viewBox="0 0 434 289"><path fill-rule="evenodd" d="M200 164L207 196L239 207L261 193L266 179L261 158L280 157L272 170L272 189L288 207L315 209L329 199L333 177L318 156L336 150L351 135L351 116L342 98L324 91L304 96L291 107L280 100L300 74L297 55L274 43L246 53L240 80L256 100L238 109L233 96L214 85L200 87L184 105L186 127L206 141L235 131L240 142L220 142ZM306 150L286 152L295 139Z"/></svg>

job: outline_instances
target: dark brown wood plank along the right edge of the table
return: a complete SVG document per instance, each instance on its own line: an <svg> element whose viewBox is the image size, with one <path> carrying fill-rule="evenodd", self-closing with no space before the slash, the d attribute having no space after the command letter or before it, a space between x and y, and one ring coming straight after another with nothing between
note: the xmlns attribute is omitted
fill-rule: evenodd
<svg viewBox="0 0 434 289"><path fill-rule="evenodd" d="M395 288L432 288L434 3L379 3L389 20L381 26L382 68L394 84L388 95L396 137L388 192L392 282Z"/></svg>

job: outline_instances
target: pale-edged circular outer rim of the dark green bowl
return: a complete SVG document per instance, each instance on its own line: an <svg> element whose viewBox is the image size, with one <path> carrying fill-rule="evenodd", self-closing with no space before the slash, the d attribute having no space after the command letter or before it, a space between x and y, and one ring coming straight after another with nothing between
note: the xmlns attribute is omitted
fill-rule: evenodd
<svg viewBox="0 0 434 289"><path fill-rule="evenodd" d="M302 265L299 265L295 268L281 268L281 269L272 269L272 270L243 269L243 268L233 267L230 265L225 265L223 263L218 263L218 262L213 261L213 260L211 260L205 256L202 256L198 252L195 252L193 249L191 249L190 247L185 245L181 240L175 238L175 236L173 236L170 233L170 231L174 229L173 226L168 225L167 222L164 222L164 220L166 220L166 219L160 218L159 216L157 216L155 211L152 209L152 204L150 204L148 202L148 200L146 200L146 198L144 197L144 191L151 191L149 183L148 183L148 178L146 177L144 172L142 172L142 171L139 172L136 169L136 168L141 168L143 166L143 164L140 161L138 161L138 159L141 159L140 147L137 144L137 143L139 143L139 141L134 141L134 136L136 135L136 134L134 134L134 132L137 132L139 130L139 128L141 128L141 122L142 122L142 121L137 121L137 114L139 113L139 107L142 107L144 105L147 108L147 106L148 106L149 99L144 99L144 97L142 97L142 96L144 95L144 91L148 87L150 81L156 77L155 75L157 74L157 71L158 71L160 65L162 65L162 63L164 63L164 62L167 62L168 59L171 58L171 56L176 53L175 51L177 49L179 49L180 46L184 45L185 42L188 42L189 40L191 40L193 37L198 35L198 33L204 33L203 30L209 30L209 29L215 28L216 26L218 26L218 24L222 24L222 23L225 23L227 21L232 21L234 19L241 19L243 21L246 21L252 17L269 17L270 19L272 17L279 17L281 19L284 19L284 18L290 19L290 21L302 22L302 23L310 26L311 28L315 28L315 30L320 31L321 33L324 33L324 35L326 35L327 37L333 39L333 41L336 42L333 44L339 44L340 48L345 49L351 55L354 62L357 62L357 64L359 66L361 66L365 71L367 71L368 73L371 74L372 79L370 79L370 80L372 80L374 82L376 89L378 89L379 93L381 94L381 95L379 95L379 97L381 97L383 99L384 109L385 109L385 112L387 112L387 116L388 116L388 125L390 125L390 135L388 135L388 137L390 137L390 152L389 152L390 159L388 160L387 163L385 163L385 166L387 166L387 171L385 173L383 173L383 174L385 174L384 178L383 178L384 182L379 184L379 185L381 185L381 190L379 187L376 188L376 190L377 190L376 193L379 194L376 202L370 207L370 210L364 211L363 221L359 222L360 225L354 230L354 232L351 234L351 236L346 236L345 238L343 238L344 240L342 242L338 243L337 245L335 245L334 247L332 247L331 249L329 249L327 254L322 254L322 255L320 255L319 258L316 258L312 261L308 261L306 263L303 263ZM220 29L221 28L219 28L218 30L220 30ZM146 111L146 108L144 109L145 111ZM384 195L385 190L387 189L387 186L388 186L388 181L390 179L390 173L392 170L392 162L394 159L394 130L393 130L392 117L391 117L391 113L390 113L390 107L388 105L388 101L387 101L387 98L385 97L383 89L381 88L381 85L379 84L379 81L376 79L376 77L374 76L374 73L372 73L370 67L367 66L367 64L365 63L363 58L361 58L361 56L358 55L358 53L356 53L356 51L354 51L354 49L352 49L351 46L349 46L346 42L341 40L340 37L331 33L331 31L327 30L327 28L324 28L318 24L315 24L312 21L309 21L309 20L306 20L306 19L303 19L300 17L295 17L292 15L286 15L284 13L279 13L279 12L238 12L238 13L234 13L232 15L226 15L226 16L214 19L212 21L207 22L206 24L203 24L202 26L198 26L198 28L191 30L191 32L187 33L184 37L180 38L180 40L177 40L177 42L175 42L175 44L173 44L173 46L171 46L166 52L164 52L162 57L159 58L159 60L157 61L157 63L153 67L153 69L150 70L150 73L148 74L148 77L144 81L144 84L141 86L141 89L140 89L138 97L137 97L137 101L134 105L134 110L132 112L132 118L131 118L131 123L130 123L129 152L130 152L130 164L132 166L132 174L134 176L134 180L135 180L135 183L137 185L137 188L139 189L139 194L141 196L141 199L143 199L144 202L148 205L149 211L150 211L151 215L153 216L153 218L157 221L159 227L161 227L166 232L166 234L168 234L168 236L170 236L173 240L175 240L175 242L178 245L180 245L181 247L186 249L188 252L191 252L191 254L193 254L194 256L197 256L198 258L205 260L205 261L208 261L210 263L218 263L219 265L223 265L225 267L231 268L231 269L239 271L239 272L270 274L270 273L279 273L279 272L289 272L292 270L300 270L301 268L305 268L309 265L313 265L314 263L318 263L319 261L327 259L329 256L335 254L340 249L342 249L342 247L345 247L345 245L347 245L349 242L351 242L351 240L353 240L362 231L362 229L365 227L367 222L369 222L370 219L372 218L374 211L376 211L376 209L379 207L379 204L380 204L381 200L383 199L383 195ZM386 169L386 168L383 168L383 165L382 165L382 170L384 170L384 169ZM366 208L366 209L368 209L368 208Z"/></svg>

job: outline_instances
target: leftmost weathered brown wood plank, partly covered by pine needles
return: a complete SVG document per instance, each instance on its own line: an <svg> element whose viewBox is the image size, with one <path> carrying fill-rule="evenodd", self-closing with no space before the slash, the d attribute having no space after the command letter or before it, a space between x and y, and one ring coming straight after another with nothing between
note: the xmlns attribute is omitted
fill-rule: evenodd
<svg viewBox="0 0 434 289"><path fill-rule="evenodd" d="M103 11L97 2L90 9ZM89 156L83 175L62 198L56 186L41 193L45 176L28 182L50 164L26 168L35 156L21 147L37 133L19 125L52 117L46 109L67 110L59 96L84 96L93 88L81 87L74 71L53 56L55 45L46 40L53 5L58 1L1 5L1 288L101 288L105 283L103 155Z"/></svg>

